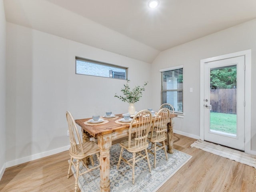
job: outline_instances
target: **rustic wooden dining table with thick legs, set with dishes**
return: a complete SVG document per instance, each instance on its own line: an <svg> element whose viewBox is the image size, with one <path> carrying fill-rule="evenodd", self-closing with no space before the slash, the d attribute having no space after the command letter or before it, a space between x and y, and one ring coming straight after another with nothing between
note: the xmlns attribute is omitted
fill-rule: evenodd
<svg viewBox="0 0 256 192"><path fill-rule="evenodd" d="M116 114L118 118L108 119L108 123L100 125L88 125L85 124L91 118L77 119L76 124L81 126L83 141L90 140L90 137L94 137L98 140L98 146L100 148L100 191L110 191L110 147L112 146L112 140L124 138L129 134L130 124L117 124L115 121L122 118L122 114ZM173 153L173 122L172 118L176 117L176 114L170 114L170 121L167 124L167 146L168 153ZM101 117L102 118L102 117ZM153 119L152 119L153 120Z"/></svg>

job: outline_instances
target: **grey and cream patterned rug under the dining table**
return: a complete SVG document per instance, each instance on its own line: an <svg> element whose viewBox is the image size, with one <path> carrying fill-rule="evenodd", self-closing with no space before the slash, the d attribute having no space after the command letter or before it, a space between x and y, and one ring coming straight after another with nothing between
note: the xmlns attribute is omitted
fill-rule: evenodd
<svg viewBox="0 0 256 192"><path fill-rule="evenodd" d="M155 192L170 177L172 177L192 156L174 150L173 154L168 154L168 161L165 158L164 151L159 150L154 168L154 156L148 154L150 158L151 173L148 170L146 159L137 162L135 166L135 184L132 184L132 168L121 161L117 170L116 165L120 155L120 145L116 144L110 148L110 191L111 192ZM132 157L126 150L123 156ZM98 163L94 157L95 164ZM80 164L80 171L86 168ZM72 166L72 172L75 172ZM81 192L99 192L100 191L100 169L97 168L78 178L78 186Z"/></svg>

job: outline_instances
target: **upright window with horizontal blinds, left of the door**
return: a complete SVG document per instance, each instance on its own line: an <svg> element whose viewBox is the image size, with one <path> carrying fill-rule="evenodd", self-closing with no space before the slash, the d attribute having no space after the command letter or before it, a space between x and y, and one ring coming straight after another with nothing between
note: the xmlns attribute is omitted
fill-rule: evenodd
<svg viewBox="0 0 256 192"><path fill-rule="evenodd" d="M175 113L183 114L183 66L160 70L161 104L169 103Z"/></svg>

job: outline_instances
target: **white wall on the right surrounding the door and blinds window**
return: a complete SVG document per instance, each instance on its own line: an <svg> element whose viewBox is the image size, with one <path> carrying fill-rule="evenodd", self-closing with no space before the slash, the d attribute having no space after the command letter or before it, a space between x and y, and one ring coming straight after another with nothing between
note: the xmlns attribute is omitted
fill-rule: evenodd
<svg viewBox="0 0 256 192"><path fill-rule="evenodd" d="M160 104L160 69L183 65L184 118L176 118L174 129L187 135L200 136L200 60L252 49L252 74L256 72L256 20L205 36L161 52L152 63L152 100ZM193 88L193 92L189 89ZM252 75L251 148L256 151L256 76Z"/></svg>

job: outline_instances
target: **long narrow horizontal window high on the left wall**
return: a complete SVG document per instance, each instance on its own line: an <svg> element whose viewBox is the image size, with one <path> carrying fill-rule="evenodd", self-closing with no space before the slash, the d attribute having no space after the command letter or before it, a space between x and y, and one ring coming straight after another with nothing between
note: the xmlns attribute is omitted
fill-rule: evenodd
<svg viewBox="0 0 256 192"><path fill-rule="evenodd" d="M127 79L127 68L76 57L76 74Z"/></svg>

